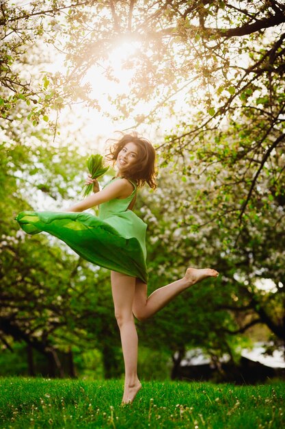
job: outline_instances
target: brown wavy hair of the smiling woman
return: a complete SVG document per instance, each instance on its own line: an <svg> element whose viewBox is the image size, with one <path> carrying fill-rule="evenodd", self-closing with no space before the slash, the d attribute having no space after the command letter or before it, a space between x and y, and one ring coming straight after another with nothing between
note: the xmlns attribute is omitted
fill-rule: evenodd
<svg viewBox="0 0 285 429"><path fill-rule="evenodd" d="M109 147L109 154L106 155L106 159L112 161L115 164L119 152L127 143L134 143L138 149L137 162L133 164L133 167L124 171L122 170L123 177L126 179L133 179L137 182L137 186L144 186L145 183L150 188L155 189L157 182L155 180L155 151L152 144L146 140L146 138L139 137L137 132L131 134L122 134L120 140L109 139L111 142Z"/></svg>

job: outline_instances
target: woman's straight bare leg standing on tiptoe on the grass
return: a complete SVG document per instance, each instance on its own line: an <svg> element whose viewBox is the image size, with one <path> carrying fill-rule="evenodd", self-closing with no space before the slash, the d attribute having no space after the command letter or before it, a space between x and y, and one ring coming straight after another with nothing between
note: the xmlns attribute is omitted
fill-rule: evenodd
<svg viewBox="0 0 285 429"><path fill-rule="evenodd" d="M124 356L125 381L122 403L133 402L141 389L137 377L137 330L133 318L135 277L111 271L111 286L115 315L120 328Z"/></svg>

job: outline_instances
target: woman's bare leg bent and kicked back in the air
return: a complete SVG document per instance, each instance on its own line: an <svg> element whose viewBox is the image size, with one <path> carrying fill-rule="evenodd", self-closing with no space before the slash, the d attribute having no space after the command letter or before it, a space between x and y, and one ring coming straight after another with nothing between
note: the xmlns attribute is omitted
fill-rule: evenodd
<svg viewBox="0 0 285 429"><path fill-rule="evenodd" d="M193 284L201 282L208 277L217 277L217 275L219 273L215 269L189 268L183 278L157 289L149 297L147 297L146 284L137 279L133 300L133 314L139 320L148 319L148 317L165 307L174 297L189 288L189 286L193 286Z"/></svg>

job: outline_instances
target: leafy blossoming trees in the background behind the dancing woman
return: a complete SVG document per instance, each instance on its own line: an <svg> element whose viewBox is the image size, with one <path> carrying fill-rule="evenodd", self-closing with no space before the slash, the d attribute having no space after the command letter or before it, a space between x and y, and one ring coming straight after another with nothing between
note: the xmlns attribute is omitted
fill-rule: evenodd
<svg viewBox="0 0 285 429"><path fill-rule="evenodd" d="M221 273L139 323L141 345L162 360L199 346L213 361L225 352L237 360L246 332L284 345L284 22L275 0L1 3L5 353L25 344L30 372L42 355L51 375L74 375L72 362L89 371L84 353L96 349L97 373L122 371L107 272L14 222L18 211L60 210L79 195L90 146L61 119L77 103L110 120L115 110L141 132L157 127L159 189L137 202L149 225L150 291L189 264ZM115 82L110 58L122 43L137 47L124 62L133 77L127 94L107 95L106 112L84 77L95 64ZM59 53L65 63L46 71ZM163 130L161 116L176 125Z"/></svg>

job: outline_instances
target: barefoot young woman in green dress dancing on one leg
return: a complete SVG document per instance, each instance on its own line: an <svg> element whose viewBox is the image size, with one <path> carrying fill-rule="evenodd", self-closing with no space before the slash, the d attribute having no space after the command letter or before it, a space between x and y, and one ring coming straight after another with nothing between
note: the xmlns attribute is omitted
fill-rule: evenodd
<svg viewBox="0 0 285 429"><path fill-rule="evenodd" d="M133 402L141 389L137 377L137 331L134 315L145 320L161 310L176 295L208 277L214 269L187 269L185 276L147 296L146 223L131 210L137 187L156 187L155 152L148 140L126 134L110 149L107 159L116 162L117 175L102 191L94 183L94 194L66 212L22 212L16 220L29 234L46 231L65 241L83 258L111 269L115 316L120 328L125 381L122 403ZM83 213L99 206L98 217Z"/></svg>

